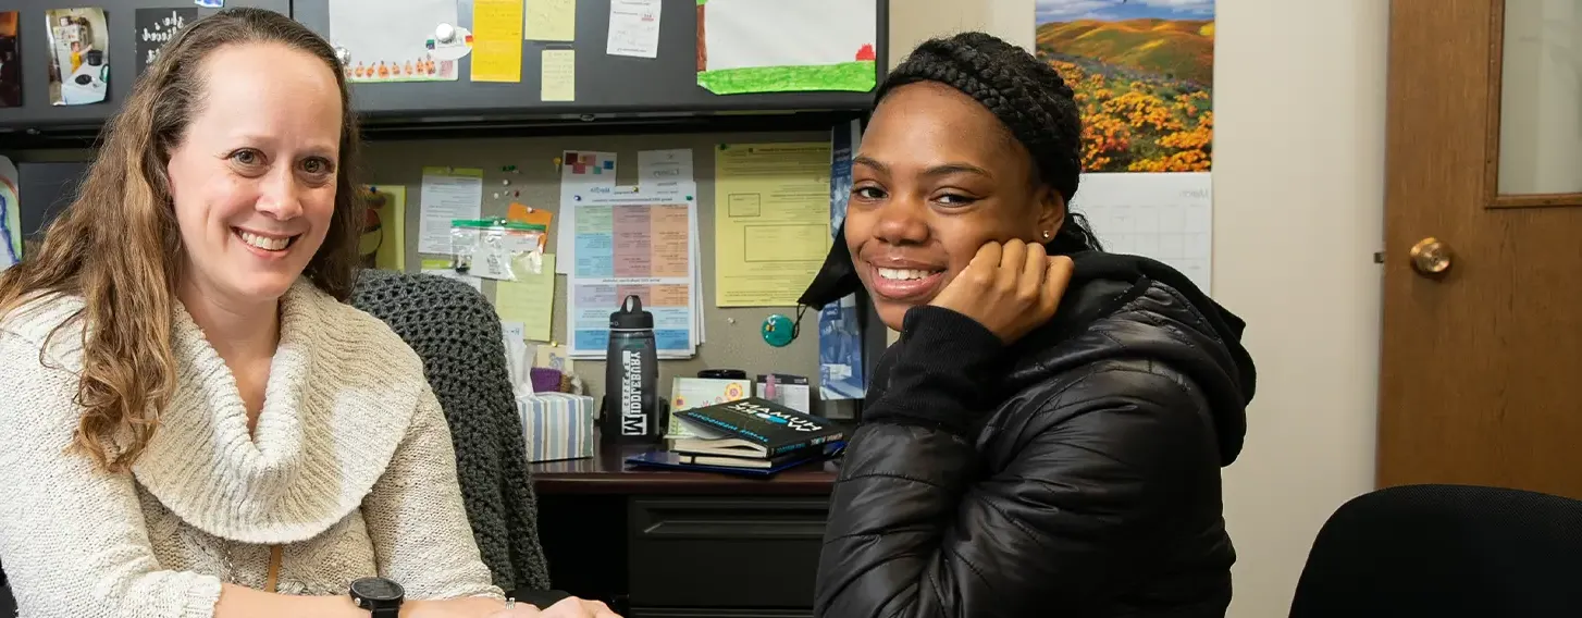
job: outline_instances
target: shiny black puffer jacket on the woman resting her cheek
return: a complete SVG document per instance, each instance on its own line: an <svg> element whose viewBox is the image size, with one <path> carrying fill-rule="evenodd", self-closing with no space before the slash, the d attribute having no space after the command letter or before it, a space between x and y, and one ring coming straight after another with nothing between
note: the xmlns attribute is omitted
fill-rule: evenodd
<svg viewBox="0 0 1582 618"><path fill-rule="evenodd" d="M1242 322L1163 264L1073 259L1060 311L1011 348L906 313L835 485L815 615L1224 615Z"/></svg>

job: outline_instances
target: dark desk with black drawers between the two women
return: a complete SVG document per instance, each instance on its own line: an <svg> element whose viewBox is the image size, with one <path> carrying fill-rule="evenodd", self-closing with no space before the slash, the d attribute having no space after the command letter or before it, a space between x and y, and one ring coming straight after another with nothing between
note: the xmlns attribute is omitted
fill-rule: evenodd
<svg viewBox="0 0 1582 618"><path fill-rule="evenodd" d="M812 616L838 465L769 479L628 469L644 449L533 466L554 588L628 618Z"/></svg>

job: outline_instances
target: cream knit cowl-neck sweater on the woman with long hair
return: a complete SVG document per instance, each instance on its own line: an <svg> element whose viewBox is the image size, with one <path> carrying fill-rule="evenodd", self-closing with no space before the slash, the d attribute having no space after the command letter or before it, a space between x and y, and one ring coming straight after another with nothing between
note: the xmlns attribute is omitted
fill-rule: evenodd
<svg viewBox="0 0 1582 618"><path fill-rule="evenodd" d="M52 296L0 321L0 566L22 616L212 616L221 582L264 588L274 545L280 593L383 575L408 599L501 596L422 362L383 322L294 285L250 433L236 378L177 310L177 390L111 474L66 454L81 307Z"/></svg>

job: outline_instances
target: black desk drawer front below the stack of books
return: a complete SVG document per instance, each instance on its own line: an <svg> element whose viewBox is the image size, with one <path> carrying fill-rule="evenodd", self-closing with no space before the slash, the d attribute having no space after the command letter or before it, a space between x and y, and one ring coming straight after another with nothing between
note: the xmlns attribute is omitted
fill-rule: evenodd
<svg viewBox="0 0 1582 618"><path fill-rule="evenodd" d="M631 498L631 604L812 607L827 514L823 496Z"/></svg>

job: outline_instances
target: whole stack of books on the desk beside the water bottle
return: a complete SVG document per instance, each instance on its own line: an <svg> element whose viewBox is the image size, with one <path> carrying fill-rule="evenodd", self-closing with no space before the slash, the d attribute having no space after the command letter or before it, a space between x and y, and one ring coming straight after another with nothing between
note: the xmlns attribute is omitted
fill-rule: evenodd
<svg viewBox="0 0 1582 618"><path fill-rule="evenodd" d="M845 428L829 419L759 397L672 414L690 436L672 439L669 450L636 455L630 463L772 474L824 458L845 438Z"/></svg>

